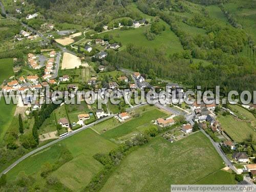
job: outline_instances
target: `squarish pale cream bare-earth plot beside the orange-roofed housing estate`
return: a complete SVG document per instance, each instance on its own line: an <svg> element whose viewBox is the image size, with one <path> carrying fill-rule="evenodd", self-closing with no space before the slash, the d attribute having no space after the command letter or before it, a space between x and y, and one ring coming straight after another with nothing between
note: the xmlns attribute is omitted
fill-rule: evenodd
<svg viewBox="0 0 256 192"><path fill-rule="evenodd" d="M81 59L70 53L64 53L61 69L75 69L81 65Z"/></svg>

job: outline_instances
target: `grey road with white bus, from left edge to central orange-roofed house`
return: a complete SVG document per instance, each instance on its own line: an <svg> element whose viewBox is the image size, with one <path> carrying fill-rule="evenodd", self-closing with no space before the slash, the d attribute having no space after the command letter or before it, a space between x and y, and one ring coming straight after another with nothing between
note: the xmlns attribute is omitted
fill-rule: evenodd
<svg viewBox="0 0 256 192"><path fill-rule="evenodd" d="M117 114L113 114L113 115L110 115L110 116L108 116L108 117L104 117L104 118L102 118L102 119L98 119L97 121L95 121L95 122L93 122L93 123L91 123L91 124L89 124L89 125L84 125L84 126L81 127L80 129L75 130L75 131L73 131L73 132L70 132L69 135L67 135L66 137L62 137L62 138L56 139L56 140L54 140L54 141L52 141L52 142L50 142L50 143L47 143L47 144L44 145L44 146L41 146L41 147L36 148L36 149L33 150L32 152L29 152L28 154L24 155L23 157L19 158L17 161L15 161L14 163L12 163L9 167L7 167L7 168L1 173L1 175L6 174L7 172L9 172L9 170L11 170L13 167L15 167L19 162L22 162L24 159L26 159L27 157L29 157L29 156L31 156L31 155L37 153L38 151L43 150L44 148L49 147L49 146L51 146L51 145L53 145L53 144L55 144L55 143L57 143L57 142L59 142L59 141L61 141L61 140L63 140L63 139L66 139L66 138L68 138L68 137L71 137L71 136L73 136L73 135L75 135L75 134L77 134L77 133L79 133L79 132L81 132L81 131L83 131L83 130L86 130L86 129L90 128L91 126L93 126L93 125L95 125L95 124L97 124L97 123L100 123L100 122L102 122L102 121L104 121L104 120L110 119L110 118L114 117L115 115L117 115Z"/></svg>

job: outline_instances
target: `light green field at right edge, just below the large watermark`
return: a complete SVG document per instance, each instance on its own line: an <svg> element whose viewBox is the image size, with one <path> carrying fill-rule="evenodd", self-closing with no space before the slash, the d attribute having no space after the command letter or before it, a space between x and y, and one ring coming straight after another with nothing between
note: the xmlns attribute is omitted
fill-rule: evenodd
<svg viewBox="0 0 256 192"><path fill-rule="evenodd" d="M219 115L218 121L220 121L222 128L234 141L245 141L249 138L250 134L254 135L254 140L256 138L256 133L253 131L253 127L245 121L237 120L231 115Z"/></svg>

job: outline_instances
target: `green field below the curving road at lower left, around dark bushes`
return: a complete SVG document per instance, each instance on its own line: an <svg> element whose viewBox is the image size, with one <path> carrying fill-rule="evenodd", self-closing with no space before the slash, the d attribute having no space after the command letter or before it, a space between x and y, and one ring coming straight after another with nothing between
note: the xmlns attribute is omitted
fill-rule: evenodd
<svg viewBox="0 0 256 192"><path fill-rule="evenodd" d="M52 175L70 189L78 191L102 168L102 164L96 161L93 155L109 152L115 146L114 143L88 129L28 157L8 172L7 179L13 181L19 172L24 171L37 178L36 183L42 183L44 179L38 176L41 165L56 162L60 148L67 147L73 159L60 166Z"/></svg>

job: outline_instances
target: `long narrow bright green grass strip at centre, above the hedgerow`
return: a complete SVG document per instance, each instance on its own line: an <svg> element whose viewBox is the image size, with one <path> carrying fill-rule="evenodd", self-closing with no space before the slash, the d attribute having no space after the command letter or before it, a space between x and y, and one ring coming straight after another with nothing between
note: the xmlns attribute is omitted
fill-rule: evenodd
<svg viewBox="0 0 256 192"><path fill-rule="evenodd" d="M165 113L156 109L150 112L145 112L140 117L131 119L115 127L114 129L103 133L102 136L106 139L116 139L118 137L124 136L131 132L138 131L136 127L141 126L145 123L150 123L152 120L155 120L159 117L164 117L164 116L166 116Z"/></svg>

